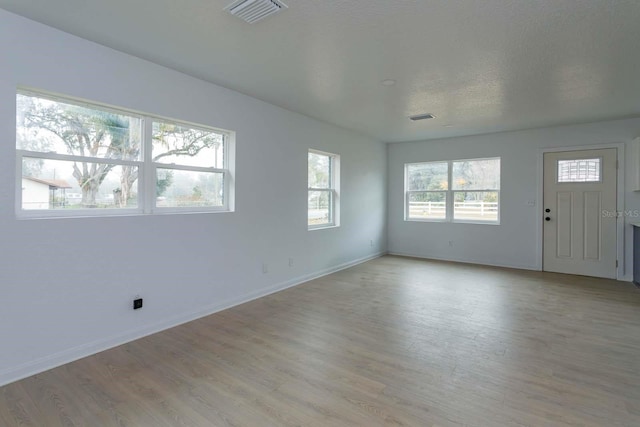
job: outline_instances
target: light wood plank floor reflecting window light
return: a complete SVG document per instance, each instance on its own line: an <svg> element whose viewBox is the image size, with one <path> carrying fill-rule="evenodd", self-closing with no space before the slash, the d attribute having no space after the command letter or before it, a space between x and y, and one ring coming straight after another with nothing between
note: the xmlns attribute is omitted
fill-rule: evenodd
<svg viewBox="0 0 640 427"><path fill-rule="evenodd" d="M2 387L0 425L640 426L640 290L386 256Z"/></svg>

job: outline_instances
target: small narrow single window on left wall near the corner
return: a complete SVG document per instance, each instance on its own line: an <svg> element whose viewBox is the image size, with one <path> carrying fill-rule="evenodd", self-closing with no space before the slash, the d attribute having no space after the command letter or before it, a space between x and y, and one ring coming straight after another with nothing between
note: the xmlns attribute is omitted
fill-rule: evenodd
<svg viewBox="0 0 640 427"><path fill-rule="evenodd" d="M309 229L339 225L340 156L309 150L307 168Z"/></svg>

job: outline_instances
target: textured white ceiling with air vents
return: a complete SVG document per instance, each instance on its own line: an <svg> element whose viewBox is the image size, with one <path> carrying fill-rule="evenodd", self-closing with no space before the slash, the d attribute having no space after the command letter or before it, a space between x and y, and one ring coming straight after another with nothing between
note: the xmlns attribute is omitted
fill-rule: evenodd
<svg viewBox="0 0 640 427"><path fill-rule="evenodd" d="M228 3L0 7L383 141L640 115L640 0L285 0L254 25Z"/></svg>

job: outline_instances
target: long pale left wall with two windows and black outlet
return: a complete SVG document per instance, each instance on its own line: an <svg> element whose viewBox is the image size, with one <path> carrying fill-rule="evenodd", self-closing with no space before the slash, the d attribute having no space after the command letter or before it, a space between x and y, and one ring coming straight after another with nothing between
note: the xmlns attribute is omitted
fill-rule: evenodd
<svg viewBox="0 0 640 427"><path fill-rule="evenodd" d="M385 251L382 143L2 10L0 46L0 384ZM235 131L235 212L17 220L18 86ZM307 231L308 148L341 156L339 228Z"/></svg>

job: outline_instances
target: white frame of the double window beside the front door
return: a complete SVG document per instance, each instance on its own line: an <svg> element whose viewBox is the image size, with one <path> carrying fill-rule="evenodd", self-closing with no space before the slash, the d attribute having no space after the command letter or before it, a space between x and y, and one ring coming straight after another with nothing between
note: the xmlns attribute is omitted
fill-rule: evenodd
<svg viewBox="0 0 640 427"><path fill-rule="evenodd" d="M482 190L453 190L453 164L456 162L472 162L482 160L498 160L500 162L500 183L499 187L502 187L502 159L500 157L482 157L473 159L455 159L455 160L434 160L429 162L411 162L404 164L404 220L409 222L449 222L460 224L485 224L485 225L500 225L501 209L501 197L500 188L498 189L482 189ZM447 164L447 189L446 190L409 190L409 166L410 165L422 165L422 164L434 164L434 163L446 163ZM468 220L468 219L455 219L453 216L455 194L456 193L483 193L491 192L498 194L498 212L496 220ZM445 193L445 217L444 218L411 218L409 216L409 196L413 193Z"/></svg>

